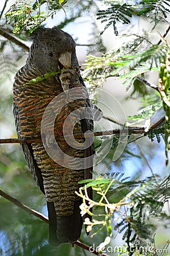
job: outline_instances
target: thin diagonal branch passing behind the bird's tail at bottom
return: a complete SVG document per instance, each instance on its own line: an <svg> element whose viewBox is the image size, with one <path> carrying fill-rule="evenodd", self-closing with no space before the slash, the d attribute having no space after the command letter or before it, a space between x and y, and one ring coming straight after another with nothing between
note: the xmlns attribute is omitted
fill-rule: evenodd
<svg viewBox="0 0 170 256"><path fill-rule="evenodd" d="M5 193L4 191L2 191L0 189L0 196L4 197L5 199L7 199L8 201L10 201L12 204L15 204L17 205L18 207L22 208L23 210L25 210L26 212L28 212L29 214L37 217L37 218L40 218L40 220L44 221L46 224L48 224L48 218L45 217L42 213L40 212L37 212L36 210L33 210L29 207L27 207L27 205L24 205L22 204L19 200L15 199L14 197L8 195L7 193ZM74 242L75 245L87 250L87 251L90 251L90 246L86 245L85 243L82 243L80 241L76 241ZM95 254L95 255L99 255L99 253L97 253L96 250L94 250L93 252L90 251L92 254ZM101 253L100 254L101 256L109 256L107 254L104 254L104 253Z"/></svg>

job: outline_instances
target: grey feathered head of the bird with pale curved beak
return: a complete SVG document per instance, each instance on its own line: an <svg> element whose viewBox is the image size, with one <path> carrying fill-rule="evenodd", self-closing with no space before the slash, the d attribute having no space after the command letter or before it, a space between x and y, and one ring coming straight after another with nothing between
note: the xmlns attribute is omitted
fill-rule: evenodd
<svg viewBox="0 0 170 256"><path fill-rule="evenodd" d="M38 75L78 67L75 42L71 35L53 27L37 28L29 37L33 43L26 65Z"/></svg>

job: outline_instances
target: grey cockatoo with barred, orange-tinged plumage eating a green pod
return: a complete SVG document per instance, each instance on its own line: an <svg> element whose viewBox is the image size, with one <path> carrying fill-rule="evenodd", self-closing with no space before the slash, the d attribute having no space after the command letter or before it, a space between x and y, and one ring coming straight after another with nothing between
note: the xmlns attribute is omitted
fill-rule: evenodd
<svg viewBox="0 0 170 256"><path fill-rule="evenodd" d="M27 63L16 73L14 82L14 116L19 138L41 137L42 115L54 97L63 91L79 88L78 93L87 95L83 80L76 71L78 60L73 38L56 27L37 28L31 37L33 44ZM67 70L61 75L50 76L43 81L29 84L29 81L37 76L43 76L47 72L58 71L61 68L67 68ZM53 130L53 118L56 118L54 135L59 137L63 135L63 123L70 113L82 107L90 107L90 100L86 97L71 101L67 98L69 97L67 93L61 96L61 101L67 100L69 104L62 108L57 117L55 113L50 116L50 119L44 117L46 127L44 136L47 143L49 143L48 134ZM57 105L59 106L60 103L57 102ZM88 113L88 117L76 122L74 133L92 130L91 113ZM68 131L69 126L71 127L71 122L67 127ZM83 143L84 139L76 141ZM91 146L85 150L79 150L69 146L66 141L58 142L58 145L66 155L74 158L86 158L92 155ZM33 178L46 196L50 242L57 245L58 241L78 240L83 222L79 209L82 200L75 191L79 189L78 181L91 177L92 168L86 168L81 163L73 169L63 167L50 158L42 143L23 144L22 147ZM62 160L66 161L66 159ZM74 164L73 160L73 166Z"/></svg>

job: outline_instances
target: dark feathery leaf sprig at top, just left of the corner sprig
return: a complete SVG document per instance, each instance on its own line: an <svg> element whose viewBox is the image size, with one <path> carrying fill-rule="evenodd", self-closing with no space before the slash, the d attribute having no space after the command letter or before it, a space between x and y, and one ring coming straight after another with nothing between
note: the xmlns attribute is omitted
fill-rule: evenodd
<svg viewBox="0 0 170 256"><path fill-rule="evenodd" d="M129 24L130 19L133 13L133 9L131 9L131 5L124 3L121 5L120 3L113 3L111 7L107 10L100 10L97 13L97 19L101 19L101 22L108 22L104 28L104 31L111 25L113 25L114 33L118 35L118 30L116 26L116 22L121 22L123 24ZM101 34L103 34L103 32Z"/></svg>

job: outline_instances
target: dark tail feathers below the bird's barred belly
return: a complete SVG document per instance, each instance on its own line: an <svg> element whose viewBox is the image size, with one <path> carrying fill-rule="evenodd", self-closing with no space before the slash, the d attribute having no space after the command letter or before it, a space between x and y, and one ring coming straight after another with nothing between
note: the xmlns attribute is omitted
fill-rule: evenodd
<svg viewBox="0 0 170 256"><path fill-rule="evenodd" d="M49 243L58 246L60 243L73 243L80 238L83 220L79 205L82 200L75 201L74 212L70 216L57 216L54 204L47 202L49 215Z"/></svg>

